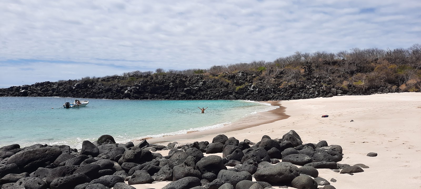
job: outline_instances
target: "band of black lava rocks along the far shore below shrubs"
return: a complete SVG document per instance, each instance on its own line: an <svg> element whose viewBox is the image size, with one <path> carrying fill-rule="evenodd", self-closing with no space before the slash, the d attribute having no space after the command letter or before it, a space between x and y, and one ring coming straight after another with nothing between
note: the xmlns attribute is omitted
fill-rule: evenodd
<svg viewBox="0 0 421 189"><path fill-rule="evenodd" d="M131 83L130 79L136 82ZM285 87L280 87L281 83L267 83L259 79L258 74L245 71L213 77L201 74L133 75L130 78L110 76L85 81L45 81L13 86L0 89L0 97L264 101L395 92L395 89L386 87L360 89L349 85L346 89L332 88L330 79L323 76L308 76L305 81Z"/></svg>

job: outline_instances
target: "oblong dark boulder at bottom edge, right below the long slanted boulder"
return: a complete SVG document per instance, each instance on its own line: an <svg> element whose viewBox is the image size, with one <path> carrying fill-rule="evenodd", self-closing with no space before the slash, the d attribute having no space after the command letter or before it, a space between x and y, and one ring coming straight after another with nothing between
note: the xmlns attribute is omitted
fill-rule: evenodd
<svg viewBox="0 0 421 189"><path fill-rule="evenodd" d="M76 173L54 179L50 187L51 189L73 189L75 186L86 182L91 182L91 179L83 173Z"/></svg>

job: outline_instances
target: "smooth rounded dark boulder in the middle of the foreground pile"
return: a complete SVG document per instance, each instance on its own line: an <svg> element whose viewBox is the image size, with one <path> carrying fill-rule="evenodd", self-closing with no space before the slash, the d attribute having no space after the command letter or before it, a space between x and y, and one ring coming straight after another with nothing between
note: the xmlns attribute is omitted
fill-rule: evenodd
<svg viewBox="0 0 421 189"><path fill-rule="evenodd" d="M222 158L217 155L209 155L203 157L200 161L196 163L197 168L202 173L214 173L218 175L219 171L226 170L226 166L222 162Z"/></svg>

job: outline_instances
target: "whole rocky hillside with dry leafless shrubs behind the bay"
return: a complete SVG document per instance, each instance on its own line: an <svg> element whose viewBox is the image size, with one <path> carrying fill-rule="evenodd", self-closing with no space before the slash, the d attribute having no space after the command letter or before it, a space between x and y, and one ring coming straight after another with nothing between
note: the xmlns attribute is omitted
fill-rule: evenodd
<svg viewBox="0 0 421 189"><path fill-rule="evenodd" d="M0 96L166 100L291 100L421 91L421 45L300 53L184 71L161 68L0 89Z"/></svg>

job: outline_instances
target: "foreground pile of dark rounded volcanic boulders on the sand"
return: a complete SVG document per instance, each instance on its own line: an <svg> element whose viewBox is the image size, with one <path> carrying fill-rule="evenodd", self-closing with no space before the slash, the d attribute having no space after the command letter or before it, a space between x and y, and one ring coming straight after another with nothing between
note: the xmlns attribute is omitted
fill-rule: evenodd
<svg viewBox="0 0 421 189"><path fill-rule="evenodd" d="M146 140L136 146L117 144L112 136L103 135L94 142L84 141L80 151L67 145L12 144L0 148L0 188L133 189L130 185L172 181L164 189L270 189L272 185L316 189L334 188L319 177L318 168L350 174L368 168L336 163L342 160L341 146L326 141L303 144L293 130L281 139L265 135L253 144L223 134L212 143L167 146ZM159 150L170 151L163 156ZM222 157L203 153L222 153Z"/></svg>

